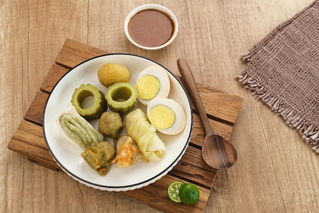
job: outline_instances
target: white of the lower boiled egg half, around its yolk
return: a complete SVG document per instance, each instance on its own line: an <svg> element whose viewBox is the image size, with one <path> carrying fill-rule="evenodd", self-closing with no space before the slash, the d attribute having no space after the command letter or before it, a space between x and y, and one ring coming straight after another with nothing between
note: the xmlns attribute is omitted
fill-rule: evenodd
<svg viewBox="0 0 319 213"><path fill-rule="evenodd" d="M154 126L156 128L156 130L159 132L162 132L164 134L168 134L168 135L174 135L174 134L180 133L184 129L185 124L186 124L186 116L185 116L185 112L182 109L182 107L172 99L157 97L157 98L152 99L150 101L149 105L147 106L147 117L149 117L150 110L153 107L155 107L156 105L167 106L175 114L175 122L171 127L167 128L167 129L158 129L156 126Z"/></svg>

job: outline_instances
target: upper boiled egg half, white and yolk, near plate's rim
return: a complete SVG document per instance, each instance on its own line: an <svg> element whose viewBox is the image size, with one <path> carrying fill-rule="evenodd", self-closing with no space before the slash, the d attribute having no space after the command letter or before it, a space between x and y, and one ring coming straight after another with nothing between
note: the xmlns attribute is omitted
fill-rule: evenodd
<svg viewBox="0 0 319 213"><path fill-rule="evenodd" d="M147 106L155 97L167 98L170 80L164 68L149 66L142 70L136 81L139 101Z"/></svg>

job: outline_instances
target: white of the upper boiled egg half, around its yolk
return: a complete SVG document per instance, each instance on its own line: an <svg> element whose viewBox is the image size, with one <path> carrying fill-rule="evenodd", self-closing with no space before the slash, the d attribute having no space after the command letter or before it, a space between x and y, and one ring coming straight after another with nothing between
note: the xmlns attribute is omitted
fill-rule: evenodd
<svg viewBox="0 0 319 213"><path fill-rule="evenodd" d="M170 92L171 85L170 85L170 79L169 79L165 69L163 69L160 66L146 67L145 69L142 70L142 72L138 76L136 82L138 82L140 80L140 78L142 78L143 76L147 76L147 75L155 76L158 79L159 84L161 84L161 87L159 88L159 90L154 98L156 98L156 97L167 98L168 94ZM141 98L138 98L138 99L144 106L147 106L149 104L149 102L151 101L151 100L144 100Z"/></svg>

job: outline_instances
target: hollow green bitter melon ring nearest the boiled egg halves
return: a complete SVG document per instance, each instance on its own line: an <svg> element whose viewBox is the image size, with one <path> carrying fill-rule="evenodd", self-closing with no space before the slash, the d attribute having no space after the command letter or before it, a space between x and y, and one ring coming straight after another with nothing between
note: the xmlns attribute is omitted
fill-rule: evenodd
<svg viewBox="0 0 319 213"><path fill-rule="evenodd" d="M135 106L138 92L129 82L117 82L105 92L105 99L112 111L125 114Z"/></svg>

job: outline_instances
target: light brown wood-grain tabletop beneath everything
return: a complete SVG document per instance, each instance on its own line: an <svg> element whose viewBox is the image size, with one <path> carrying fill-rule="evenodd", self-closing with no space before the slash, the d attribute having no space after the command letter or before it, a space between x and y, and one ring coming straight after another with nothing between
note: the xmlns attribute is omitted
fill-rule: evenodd
<svg viewBox="0 0 319 213"><path fill-rule="evenodd" d="M183 57L196 82L244 98L230 138L238 160L218 171L205 212L318 212L319 156L234 79L245 68L240 55L311 2L2 1L0 212L160 212L122 193L94 190L7 149L67 38L145 56L176 75L176 60ZM126 14L146 3L168 7L179 21L178 35L165 49L142 50L125 38Z"/></svg>

